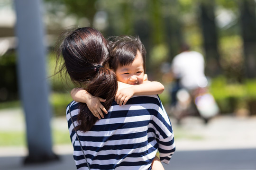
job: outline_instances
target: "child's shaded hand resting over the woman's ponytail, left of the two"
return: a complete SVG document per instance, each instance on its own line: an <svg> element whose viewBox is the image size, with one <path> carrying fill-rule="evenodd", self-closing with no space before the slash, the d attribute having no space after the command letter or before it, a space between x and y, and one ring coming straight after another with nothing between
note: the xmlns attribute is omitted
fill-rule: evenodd
<svg viewBox="0 0 256 170"><path fill-rule="evenodd" d="M104 108L101 102L106 102L106 99L102 99L101 97L95 97L93 95L90 96L90 100L86 102L88 109L91 111L93 116L98 119L104 118L102 110L104 113L108 114L108 111Z"/></svg>

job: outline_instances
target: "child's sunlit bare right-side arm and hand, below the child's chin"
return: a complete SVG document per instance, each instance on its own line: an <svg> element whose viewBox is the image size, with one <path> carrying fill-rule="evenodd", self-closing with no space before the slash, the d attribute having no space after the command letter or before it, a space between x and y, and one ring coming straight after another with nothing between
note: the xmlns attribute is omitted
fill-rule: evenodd
<svg viewBox="0 0 256 170"><path fill-rule="evenodd" d="M140 85L123 85L119 82L118 92L115 96L115 101L119 104L126 104L126 102L133 95L146 95L146 94L161 94L165 90L165 86L156 81L144 81Z"/></svg>

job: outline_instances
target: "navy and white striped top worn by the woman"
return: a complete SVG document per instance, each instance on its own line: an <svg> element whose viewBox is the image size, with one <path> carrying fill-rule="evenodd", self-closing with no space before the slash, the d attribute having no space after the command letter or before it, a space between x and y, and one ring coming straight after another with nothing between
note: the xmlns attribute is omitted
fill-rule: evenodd
<svg viewBox="0 0 256 170"><path fill-rule="evenodd" d="M77 104L70 103L75 126ZM66 118L77 170L88 170L68 107ZM167 164L175 151L171 122L157 95L134 96L122 106L113 102L104 119L77 133L91 170L150 170L157 149Z"/></svg>

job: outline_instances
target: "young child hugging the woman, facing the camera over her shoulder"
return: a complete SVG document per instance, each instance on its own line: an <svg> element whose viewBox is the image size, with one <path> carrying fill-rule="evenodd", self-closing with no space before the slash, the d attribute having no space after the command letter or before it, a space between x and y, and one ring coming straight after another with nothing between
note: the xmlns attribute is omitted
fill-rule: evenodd
<svg viewBox="0 0 256 170"><path fill-rule="evenodd" d="M160 94L164 85L156 81L148 81L146 71L146 49L138 37L112 37L110 41L110 68L118 79L118 92L115 101L120 106L126 104L133 95ZM75 88L71 96L76 102L85 102L92 114L99 119L108 111L101 102L105 99L94 97L82 88ZM101 111L102 110L102 111ZM152 162L152 170L164 170L159 157Z"/></svg>

